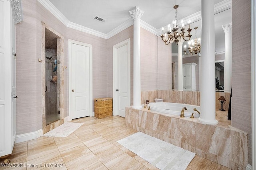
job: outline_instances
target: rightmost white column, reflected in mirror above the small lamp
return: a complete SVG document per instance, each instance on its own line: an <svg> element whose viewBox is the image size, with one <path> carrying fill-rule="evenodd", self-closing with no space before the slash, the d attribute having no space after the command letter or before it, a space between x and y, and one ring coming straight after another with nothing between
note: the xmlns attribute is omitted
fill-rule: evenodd
<svg viewBox="0 0 256 170"><path fill-rule="evenodd" d="M232 77L232 23L222 25L225 32L224 92L231 92Z"/></svg>

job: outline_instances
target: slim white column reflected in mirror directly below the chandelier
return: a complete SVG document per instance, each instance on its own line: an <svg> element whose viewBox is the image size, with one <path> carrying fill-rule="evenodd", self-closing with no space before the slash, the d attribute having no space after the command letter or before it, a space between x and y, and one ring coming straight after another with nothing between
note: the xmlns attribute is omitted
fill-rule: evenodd
<svg viewBox="0 0 256 170"><path fill-rule="evenodd" d="M180 39L178 42L178 90L183 90L183 66L182 66L182 45L184 39Z"/></svg>

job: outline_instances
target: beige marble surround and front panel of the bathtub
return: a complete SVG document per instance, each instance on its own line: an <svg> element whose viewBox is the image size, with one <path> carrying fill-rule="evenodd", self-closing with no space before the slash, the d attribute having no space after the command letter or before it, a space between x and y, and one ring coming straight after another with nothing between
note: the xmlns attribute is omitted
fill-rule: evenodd
<svg viewBox="0 0 256 170"><path fill-rule="evenodd" d="M179 115L126 107L126 126L228 168L245 169L248 134L230 126L230 121L225 120L222 113L216 113L216 119L222 118L218 125L205 125L198 118L180 118Z"/></svg>

